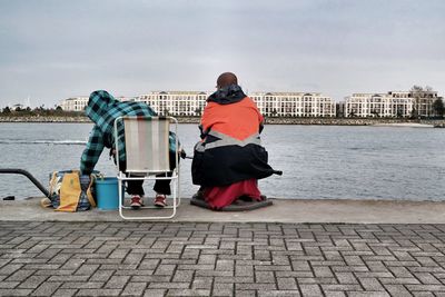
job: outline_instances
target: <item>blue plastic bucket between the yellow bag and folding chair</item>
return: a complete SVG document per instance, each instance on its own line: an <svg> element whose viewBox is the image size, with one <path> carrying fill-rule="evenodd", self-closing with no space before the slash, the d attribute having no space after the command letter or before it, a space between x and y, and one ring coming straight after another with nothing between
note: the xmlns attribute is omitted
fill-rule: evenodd
<svg viewBox="0 0 445 297"><path fill-rule="evenodd" d="M97 206L101 210L116 210L119 208L119 187L116 177L96 179Z"/></svg>

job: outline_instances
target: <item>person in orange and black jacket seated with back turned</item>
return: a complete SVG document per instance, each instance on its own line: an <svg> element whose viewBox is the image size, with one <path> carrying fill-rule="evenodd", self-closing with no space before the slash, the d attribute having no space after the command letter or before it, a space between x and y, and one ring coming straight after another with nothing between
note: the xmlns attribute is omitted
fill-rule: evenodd
<svg viewBox="0 0 445 297"><path fill-rule="evenodd" d="M238 86L237 77L218 77L217 91L207 99L200 129L201 141L195 147L191 176L201 186L204 199L219 209L239 197L261 200L257 180L275 171L260 143L264 118L256 103Z"/></svg>

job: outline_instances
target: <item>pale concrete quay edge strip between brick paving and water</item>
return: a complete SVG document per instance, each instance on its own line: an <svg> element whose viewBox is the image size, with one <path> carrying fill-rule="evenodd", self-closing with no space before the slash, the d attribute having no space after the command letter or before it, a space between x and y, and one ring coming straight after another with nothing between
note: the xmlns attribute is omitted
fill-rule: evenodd
<svg viewBox="0 0 445 297"><path fill-rule="evenodd" d="M0 201L0 220L122 221L117 210L93 208L60 212L40 206L41 197ZM162 221L199 222L333 222L333 224L445 224L445 201L271 199L273 206L239 212L202 209L181 199L177 215ZM128 215L167 215L170 210L127 210Z"/></svg>

